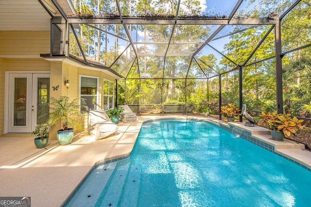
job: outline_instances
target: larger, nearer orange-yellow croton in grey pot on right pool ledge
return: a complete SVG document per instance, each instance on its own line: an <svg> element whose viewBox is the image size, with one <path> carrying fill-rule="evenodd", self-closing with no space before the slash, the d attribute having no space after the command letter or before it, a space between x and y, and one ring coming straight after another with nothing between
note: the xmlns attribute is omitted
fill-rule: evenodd
<svg viewBox="0 0 311 207"><path fill-rule="evenodd" d="M261 112L260 117L258 125L269 128L272 139L277 141L282 141L284 137L293 138L298 129L304 128L301 125L303 120L299 120L296 117L292 118L290 113Z"/></svg>

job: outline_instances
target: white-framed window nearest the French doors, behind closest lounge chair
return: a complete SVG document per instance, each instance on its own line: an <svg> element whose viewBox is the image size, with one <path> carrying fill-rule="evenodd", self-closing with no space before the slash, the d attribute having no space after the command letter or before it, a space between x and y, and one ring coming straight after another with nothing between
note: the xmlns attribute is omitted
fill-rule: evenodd
<svg viewBox="0 0 311 207"><path fill-rule="evenodd" d="M81 100L81 111L89 111L97 109L98 105L98 78L91 76L80 76L80 97L85 98Z"/></svg>

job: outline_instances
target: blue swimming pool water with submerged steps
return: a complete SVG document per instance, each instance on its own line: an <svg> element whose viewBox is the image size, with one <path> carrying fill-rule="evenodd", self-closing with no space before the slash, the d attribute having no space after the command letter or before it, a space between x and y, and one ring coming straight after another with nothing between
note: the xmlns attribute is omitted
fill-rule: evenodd
<svg viewBox="0 0 311 207"><path fill-rule="evenodd" d="M67 206L307 207L311 173L213 124L157 120L131 156L100 164Z"/></svg>

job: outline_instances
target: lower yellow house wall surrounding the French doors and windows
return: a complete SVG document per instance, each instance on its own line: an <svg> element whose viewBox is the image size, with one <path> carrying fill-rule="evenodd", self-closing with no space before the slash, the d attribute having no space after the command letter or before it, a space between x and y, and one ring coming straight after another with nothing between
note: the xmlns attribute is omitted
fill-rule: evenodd
<svg viewBox="0 0 311 207"><path fill-rule="evenodd" d="M49 62L43 58L0 58L0 135L4 132L4 84L6 71L50 72L50 96L79 97L80 75L94 76L99 79L99 108L102 108L103 80L114 80L113 77L99 70L79 68L64 62ZM64 80L69 79L70 87L66 88ZM52 86L59 85L58 90L53 91ZM83 117L84 127L87 128L87 115ZM51 139L56 139L56 131L51 134Z"/></svg>

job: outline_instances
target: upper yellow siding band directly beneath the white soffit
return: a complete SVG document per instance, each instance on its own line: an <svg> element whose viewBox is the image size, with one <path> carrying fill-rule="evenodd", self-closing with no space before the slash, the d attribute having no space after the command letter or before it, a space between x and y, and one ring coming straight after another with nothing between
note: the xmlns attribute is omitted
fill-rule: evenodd
<svg viewBox="0 0 311 207"><path fill-rule="evenodd" d="M0 55L50 53L50 31L0 31Z"/></svg>

